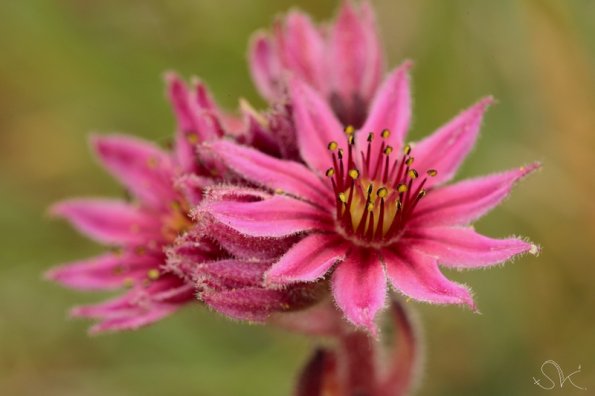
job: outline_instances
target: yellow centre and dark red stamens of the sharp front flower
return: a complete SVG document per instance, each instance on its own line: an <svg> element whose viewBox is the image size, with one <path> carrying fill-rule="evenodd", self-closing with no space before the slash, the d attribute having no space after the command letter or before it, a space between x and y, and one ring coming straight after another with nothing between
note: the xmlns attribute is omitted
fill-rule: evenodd
<svg viewBox="0 0 595 396"><path fill-rule="evenodd" d="M368 134L365 152L360 151L359 166L355 162L355 130L345 128L347 155L337 142L330 142L333 166L326 171L336 196L336 219L339 227L351 238L371 243L384 243L398 237L411 218L417 203L427 194L427 177L420 178L413 168L415 158L410 145L398 158L386 143L388 129L380 133L380 150L373 153L374 133ZM376 143L378 144L378 143ZM434 177L435 169L427 171Z"/></svg>

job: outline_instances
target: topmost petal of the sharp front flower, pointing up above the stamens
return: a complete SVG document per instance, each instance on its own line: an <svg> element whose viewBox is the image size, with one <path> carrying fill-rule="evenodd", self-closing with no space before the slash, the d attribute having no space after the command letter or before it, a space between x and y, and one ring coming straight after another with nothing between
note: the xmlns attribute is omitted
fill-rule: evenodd
<svg viewBox="0 0 595 396"><path fill-rule="evenodd" d="M376 134L376 141L380 142L380 133L384 129L390 131L390 136L385 139L386 143L399 150L403 146L403 140L407 135L409 123L411 122L411 89L409 87L409 69L412 63L406 61L399 68L395 69L386 81L382 84L374 97L369 110L366 123L357 136L358 146L363 149L367 146L369 132ZM371 158L381 155L379 144L373 144Z"/></svg>

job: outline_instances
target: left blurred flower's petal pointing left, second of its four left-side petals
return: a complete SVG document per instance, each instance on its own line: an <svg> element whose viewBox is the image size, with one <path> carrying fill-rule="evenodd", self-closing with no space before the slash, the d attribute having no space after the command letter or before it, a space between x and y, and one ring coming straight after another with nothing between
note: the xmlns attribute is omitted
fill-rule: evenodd
<svg viewBox="0 0 595 396"><path fill-rule="evenodd" d="M158 219L121 201L73 199L54 205L50 211L67 219L83 234L106 244L147 244L161 239Z"/></svg>

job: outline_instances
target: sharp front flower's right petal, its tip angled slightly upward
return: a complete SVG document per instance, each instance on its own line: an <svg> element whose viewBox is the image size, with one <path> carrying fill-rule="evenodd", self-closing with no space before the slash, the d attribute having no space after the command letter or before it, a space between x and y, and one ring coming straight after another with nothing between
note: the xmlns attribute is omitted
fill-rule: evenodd
<svg viewBox="0 0 595 396"><path fill-rule="evenodd" d="M512 187L539 163L432 190L413 212L411 226L466 225L486 214L508 196Z"/></svg>

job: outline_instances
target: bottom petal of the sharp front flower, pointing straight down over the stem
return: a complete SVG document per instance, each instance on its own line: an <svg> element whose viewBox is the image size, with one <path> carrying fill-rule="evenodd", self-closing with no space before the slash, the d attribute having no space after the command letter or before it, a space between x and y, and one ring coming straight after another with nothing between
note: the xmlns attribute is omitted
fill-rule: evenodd
<svg viewBox="0 0 595 396"><path fill-rule="evenodd" d="M347 319L377 335L374 318L386 301L386 276L378 256L355 248L335 269L332 285Z"/></svg>

